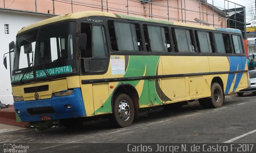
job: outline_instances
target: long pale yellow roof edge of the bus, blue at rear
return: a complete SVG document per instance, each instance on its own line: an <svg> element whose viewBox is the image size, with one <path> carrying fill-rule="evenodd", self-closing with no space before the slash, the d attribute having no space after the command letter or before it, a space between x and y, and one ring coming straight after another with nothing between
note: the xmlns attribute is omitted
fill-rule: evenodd
<svg viewBox="0 0 256 153"><path fill-rule="evenodd" d="M160 24L170 24L170 25L175 25L175 26L196 27L196 28L200 28L200 29L219 30L219 31L239 33L239 34L241 33L241 31L239 29L215 28L215 27L201 26L201 25L196 25L196 24L185 24L185 23L180 23L180 22L170 22L170 21L166 21L166 20L157 20L157 19L150 19L150 18L143 18L143 17L136 17L136 16L127 16L127 15L123 15L123 14L114 14L114 13L109 13L109 12L84 11L84 12L76 12L76 13L72 13L72 14L65 14L63 16L55 16L53 18L49 18L46 20L42 20L40 22L36 22L34 24L31 24L30 26L23 27L20 31L18 31L18 34L24 32L24 31L27 31L29 29L43 26L46 24L63 21L63 20L69 20L69 19L86 18L89 16L106 16L106 17L111 17L111 18L123 18L123 19L128 19L128 20L138 20L138 21L154 22L154 23L160 23Z"/></svg>

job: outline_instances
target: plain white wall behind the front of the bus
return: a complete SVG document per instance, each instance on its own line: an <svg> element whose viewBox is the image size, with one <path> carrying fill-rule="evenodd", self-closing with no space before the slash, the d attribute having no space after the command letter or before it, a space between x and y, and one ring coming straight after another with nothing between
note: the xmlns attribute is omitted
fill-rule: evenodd
<svg viewBox="0 0 256 153"><path fill-rule="evenodd" d="M7 56L7 70L3 64L4 53L9 51L9 43L15 42L16 34L22 27L47 18L50 17L0 12L0 100L2 104L13 104L9 55ZM4 34L5 24L9 24L9 34Z"/></svg>

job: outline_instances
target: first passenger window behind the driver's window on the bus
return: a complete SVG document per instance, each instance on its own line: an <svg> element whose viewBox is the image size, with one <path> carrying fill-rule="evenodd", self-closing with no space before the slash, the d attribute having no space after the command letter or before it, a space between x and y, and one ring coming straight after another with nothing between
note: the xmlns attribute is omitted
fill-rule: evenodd
<svg viewBox="0 0 256 153"><path fill-rule="evenodd" d="M114 22L114 29L118 51L139 51L134 24ZM112 49L116 50L114 44Z"/></svg>

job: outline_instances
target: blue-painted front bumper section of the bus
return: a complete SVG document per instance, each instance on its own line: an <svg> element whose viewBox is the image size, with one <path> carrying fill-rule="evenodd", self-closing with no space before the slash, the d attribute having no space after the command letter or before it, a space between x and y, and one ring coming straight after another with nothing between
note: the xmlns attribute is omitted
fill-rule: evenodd
<svg viewBox="0 0 256 153"><path fill-rule="evenodd" d="M72 106L72 109L66 108L67 105ZM52 107L55 113L30 115L27 111L29 108L42 107ZM40 121L40 116L51 116L52 120L86 116L80 88L75 88L74 93L69 96L55 97L52 95L52 98L49 99L14 102L14 108L16 113L17 110L20 111L18 115L22 122Z"/></svg>

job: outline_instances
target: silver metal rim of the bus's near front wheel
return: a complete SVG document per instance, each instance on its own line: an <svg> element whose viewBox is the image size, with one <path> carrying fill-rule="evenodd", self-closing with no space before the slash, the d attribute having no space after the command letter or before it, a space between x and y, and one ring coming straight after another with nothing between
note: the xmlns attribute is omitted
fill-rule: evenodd
<svg viewBox="0 0 256 153"><path fill-rule="evenodd" d="M131 116L130 105L126 100L122 100L118 106L118 114L121 120L127 121Z"/></svg>

